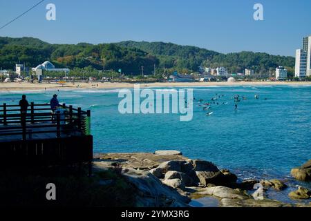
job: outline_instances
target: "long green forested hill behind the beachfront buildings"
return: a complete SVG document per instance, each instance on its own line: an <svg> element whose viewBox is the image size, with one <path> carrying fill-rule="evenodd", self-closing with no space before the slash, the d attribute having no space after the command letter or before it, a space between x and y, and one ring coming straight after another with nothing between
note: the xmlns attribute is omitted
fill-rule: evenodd
<svg viewBox="0 0 311 221"><path fill-rule="evenodd" d="M115 70L138 75L158 69L197 71L198 66L225 66L230 72L243 72L252 68L256 73L267 73L276 66L294 68L294 57L275 56L260 52L222 54L194 46L147 41L122 41L112 44L48 44L31 37L0 37L0 66L13 69L16 63L35 67L50 60L58 67Z"/></svg>

